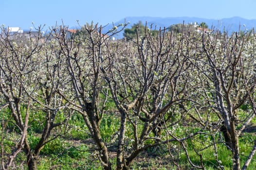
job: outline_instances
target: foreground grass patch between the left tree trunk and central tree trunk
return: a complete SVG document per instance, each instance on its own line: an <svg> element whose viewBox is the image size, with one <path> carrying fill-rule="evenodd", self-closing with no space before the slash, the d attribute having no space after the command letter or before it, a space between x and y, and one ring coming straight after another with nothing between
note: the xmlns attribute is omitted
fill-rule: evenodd
<svg viewBox="0 0 256 170"><path fill-rule="evenodd" d="M45 145L38 158L38 170L101 170L86 144L74 146L72 141L56 139Z"/></svg>

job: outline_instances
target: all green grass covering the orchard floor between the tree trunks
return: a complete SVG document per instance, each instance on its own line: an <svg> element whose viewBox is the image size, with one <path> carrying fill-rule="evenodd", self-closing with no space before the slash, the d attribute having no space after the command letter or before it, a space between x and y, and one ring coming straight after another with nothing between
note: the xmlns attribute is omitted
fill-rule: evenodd
<svg viewBox="0 0 256 170"><path fill-rule="evenodd" d="M113 103L110 102L108 107L113 107ZM5 114L6 115L6 114ZM3 119L3 117L1 117ZM43 119L43 113L37 112L35 119ZM65 118L64 114L59 114L59 118L56 120L61 121ZM4 118L8 119L8 117ZM134 119L134 118L132 118ZM114 136L120 127L120 117L119 115L114 115L113 113L106 113L101 121L101 136L103 140L110 144L111 147L116 144L116 137ZM142 130L142 125L138 124L139 130ZM14 139L18 135L15 130L13 123L8 123L8 128L12 128L12 131L3 139L4 149L7 153L11 151L14 147ZM30 130L28 132L28 140L33 149L37 142L39 141L39 136L41 132L41 126L36 121L30 124ZM194 133L200 130L196 126L189 125L185 126L171 126L170 131L173 132L175 136L187 135L188 133ZM62 128L55 129L55 134L62 134ZM205 131L206 132L206 131ZM153 134L151 134L153 135ZM165 136L165 133L162 134ZM126 146L132 146L132 125L127 123L126 131ZM216 135L216 141L218 141L219 134ZM93 142L89 143L85 141L89 139L88 129L85 125L83 117L74 113L69 120L68 131L62 137L58 137L55 140L47 143L42 149L40 156L37 159L37 169L38 170L49 170L49 169L61 169L61 170L102 170L101 163L96 155L95 144ZM254 133L242 133L239 137L239 148L240 148L240 162L241 166L246 161L246 156L251 152L256 136ZM154 140L147 140L147 144L154 143ZM193 138L193 145L190 140L185 142L189 156L193 164L200 166L201 160L200 156L194 151L193 147L202 155L203 165L206 170L216 170L218 169L218 163L216 160L215 152L213 146L201 150L204 145L210 145L212 142L211 136L198 135ZM204 145L203 145L203 144ZM126 149L128 149L126 147ZM171 143L171 151L174 155L175 161L179 162L180 168L193 169L189 164L187 157L183 151L181 145L178 142ZM113 147L114 151L114 147ZM230 170L232 168L232 153L223 145L217 144L218 160L221 161L221 165L225 170ZM256 157L255 157L256 159ZM17 169L27 169L26 155L24 153L18 154L15 164L18 166ZM113 168L115 168L116 158L112 157L111 160ZM252 160L248 170L254 170L256 167L256 161ZM141 153L132 163L131 170L175 170L176 167L172 163L172 159L168 153L168 148L166 145L162 145L156 148L147 149L145 152Z"/></svg>

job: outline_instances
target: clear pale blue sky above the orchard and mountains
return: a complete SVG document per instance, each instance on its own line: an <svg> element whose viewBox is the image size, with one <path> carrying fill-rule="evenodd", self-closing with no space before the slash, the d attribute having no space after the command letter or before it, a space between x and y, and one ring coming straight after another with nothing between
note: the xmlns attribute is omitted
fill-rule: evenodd
<svg viewBox="0 0 256 170"><path fill-rule="evenodd" d="M256 0L0 0L0 25L105 25L125 17L203 17L256 19Z"/></svg>

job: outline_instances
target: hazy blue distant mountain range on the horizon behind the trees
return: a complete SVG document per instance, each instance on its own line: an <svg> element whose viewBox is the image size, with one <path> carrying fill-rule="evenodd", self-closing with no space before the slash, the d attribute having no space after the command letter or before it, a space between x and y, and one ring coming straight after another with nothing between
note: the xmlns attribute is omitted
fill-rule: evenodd
<svg viewBox="0 0 256 170"><path fill-rule="evenodd" d="M133 24L138 23L139 21L142 21L142 23L146 23L150 26L153 24L153 28L156 27L156 29L161 28L167 28L170 25L178 24L178 23L201 23L205 22L209 28L213 27L213 29L218 29L220 32L223 32L224 30L228 33L237 32L239 30L250 30L254 27L256 27L256 19L244 19L241 17L231 17L231 18L222 18L222 19L205 19L205 18L199 18L199 17L126 17L124 19L121 19L114 23L114 25L118 25L121 23L128 23L128 26L126 28L131 28ZM108 31L113 27L112 24L107 25L104 30ZM119 33L116 35L116 38L123 38L124 32Z"/></svg>

